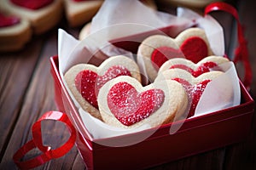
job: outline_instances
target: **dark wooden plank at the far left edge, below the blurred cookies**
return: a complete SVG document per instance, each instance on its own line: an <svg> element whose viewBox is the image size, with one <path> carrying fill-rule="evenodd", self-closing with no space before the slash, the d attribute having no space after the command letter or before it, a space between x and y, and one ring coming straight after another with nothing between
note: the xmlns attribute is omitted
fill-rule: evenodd
<svg viewBox="0 0 256 170"><path fill-rule="evenodd" d="M0 157L19 117L42 42L43 38L36 38L20 52L0 54Z"/></svg>

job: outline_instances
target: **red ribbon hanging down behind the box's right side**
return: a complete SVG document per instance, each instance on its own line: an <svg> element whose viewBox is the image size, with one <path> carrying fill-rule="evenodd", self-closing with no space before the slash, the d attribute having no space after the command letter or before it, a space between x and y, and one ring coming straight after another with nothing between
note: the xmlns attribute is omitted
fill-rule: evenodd
<svg viewBox="0 0 256 170"><path fill-rule="evenodd" d="M239 21L237 10L236 8L232 7L228 3L218 2L218 3L209 4L207 8L205 8L205 14L209 14L210 12L216 11L216 10L221 10L221 11L230 13L236 19L237 38L238 38L239 46L236 48L235 57L233 61L235 64L239 61L243 63L244 71L245 71L243 84L247 88L247 90L249 90L252 84L253 74L252 74L252 68L248 58L249 54L247 50L247 40L244 37L243 27L241 26L241 23Z"/></svg>

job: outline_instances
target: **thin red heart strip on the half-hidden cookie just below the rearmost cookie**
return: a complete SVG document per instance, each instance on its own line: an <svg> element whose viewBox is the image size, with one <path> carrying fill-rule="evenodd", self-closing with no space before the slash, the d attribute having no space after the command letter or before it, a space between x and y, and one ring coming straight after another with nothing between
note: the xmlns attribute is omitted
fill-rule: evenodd
<svg viewBox="0 0 256 170"><path fill-rule="evenodd" d="M211 71L211 69L213 67L216 67L218 66L216 63L212 62L212 61L208 61L208 62L205 62L201 65L199 65L197 67L197 69L194 71L193 69L191 69L189 66L187 65L172 65L170 67L170 69L175 69L175 68L178 68L178 69L183 69L185 71L189 71L189 73L193 76L193 77L199 77L201 74L205 73L205 72L209 72Z"/></svg>

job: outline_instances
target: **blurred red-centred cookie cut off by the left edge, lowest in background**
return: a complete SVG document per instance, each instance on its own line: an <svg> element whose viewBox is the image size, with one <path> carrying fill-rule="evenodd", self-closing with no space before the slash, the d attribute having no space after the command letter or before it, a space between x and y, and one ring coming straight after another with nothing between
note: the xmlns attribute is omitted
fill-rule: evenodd
<svg viewBox="0 0 256 170"><path fill-rule="evenodd" d="M28 20L0 11L0 52L20 50L31 37Z"/></svg>

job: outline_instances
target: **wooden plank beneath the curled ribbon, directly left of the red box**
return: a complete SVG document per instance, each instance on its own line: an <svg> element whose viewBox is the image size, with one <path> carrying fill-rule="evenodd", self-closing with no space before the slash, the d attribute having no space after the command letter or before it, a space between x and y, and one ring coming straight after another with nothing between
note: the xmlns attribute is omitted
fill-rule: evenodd
<svg viewBox="0 0 256 170"><path fill-rule="evenodd" d="M12 156L21 145L32 139L32 123L36 122L38 117L42 116L44 112L56 110L53 80L49 72L49 57L57 54L57 31L51 31L47 37L49 38L44 42L38 65L32 75L32 82L27 88L20 116L15 124L13 135L9 140L7 149L4 152L0 169L3 169L3 167L9 167L9 169L16 168L12 161ZM63 126L60 127L58 122L53 122L52 124L47 125L48 126L45 126L44 128L44 132L46 133L44 133L45 144L57 147L59 144L63 144L69 137L67 128L63 128ZM35 153L37 153L37 150L33 150L29 153L28 157L35 156ZM74 147L66 156L54 161L49 161L44 164L44 166L38 167L38 169L47 169L49 167L53 169L70 169L73 167L73 162L77 157L78 150Z"/></svg>

